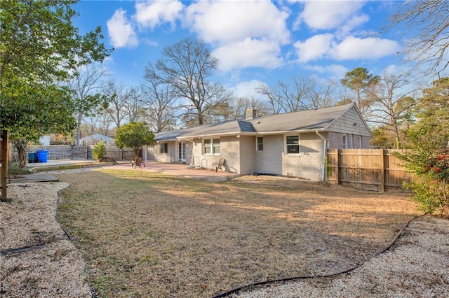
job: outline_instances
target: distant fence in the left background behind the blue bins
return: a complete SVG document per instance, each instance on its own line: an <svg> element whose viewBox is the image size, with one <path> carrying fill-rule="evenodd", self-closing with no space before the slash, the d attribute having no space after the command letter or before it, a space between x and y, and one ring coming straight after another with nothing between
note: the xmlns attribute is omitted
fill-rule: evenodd
<svg viewBox="0 0 449 298"><path fill-rule="evenodd" d="M36 152L37 150L48 150L48 160L59 159L93 159L91 146L31 146L28 148L28 152ZM106 146L107 157L114 157L116 160L133 160L135 154L133 148L117 148L113 146Z"/></svg>

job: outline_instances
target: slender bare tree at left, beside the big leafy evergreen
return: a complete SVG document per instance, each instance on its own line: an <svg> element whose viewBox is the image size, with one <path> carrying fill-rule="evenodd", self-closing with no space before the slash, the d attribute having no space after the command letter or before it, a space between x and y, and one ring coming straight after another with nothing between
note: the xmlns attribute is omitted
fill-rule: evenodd
<svg viewBox="0 0 449 298"><path fill-rule="evenodd" d="M83 116L105 106L106 98L100 94L102 78L107 72L102 66L89 64L84 66L67 81L67 87L72 91L72 101L76 111L76 146L79 146L79 135Z"/></svg>

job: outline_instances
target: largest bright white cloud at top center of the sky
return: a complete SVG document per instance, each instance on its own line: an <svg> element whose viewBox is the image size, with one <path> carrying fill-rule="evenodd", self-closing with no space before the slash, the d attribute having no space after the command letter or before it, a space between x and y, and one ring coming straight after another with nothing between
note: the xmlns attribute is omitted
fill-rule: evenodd
<svg viewBox="0 0 449 298"><path fill-rule="evenodd" d="M288 43L287 17L271 1L199 1L187 8L185 25L208 43L246 38Z"/></svg>

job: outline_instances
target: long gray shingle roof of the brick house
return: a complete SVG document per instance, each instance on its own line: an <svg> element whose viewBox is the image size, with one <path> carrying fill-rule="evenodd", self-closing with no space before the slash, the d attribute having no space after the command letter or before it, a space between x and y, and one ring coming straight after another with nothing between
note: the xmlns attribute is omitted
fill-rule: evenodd
<svg viewBox="0 0 449 298"><path fill-rule="evenodd" d="M155 141L169 141L175 139L192 139L201 136L235 135L235 134L276 134L282 132L299 132L316 129L326 129L333 121L354 106L346 104L304 110L293 113L274 114L254 118L252 120L233 120L216 122L192 127L177 129L156 134Z"/></svg>

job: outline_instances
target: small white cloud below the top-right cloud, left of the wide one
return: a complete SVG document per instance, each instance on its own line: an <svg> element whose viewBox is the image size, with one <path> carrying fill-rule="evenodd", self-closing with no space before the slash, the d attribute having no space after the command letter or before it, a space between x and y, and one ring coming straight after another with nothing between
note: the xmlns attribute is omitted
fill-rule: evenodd
<svg viewBox="0 0 449 298"><path fill-rule="evenodd" d="M297 49L298 61L309 62L322 58L330 50L333 39L333 34L328 33L312 36L303 43L297 41L294 46Z"/></svg>

